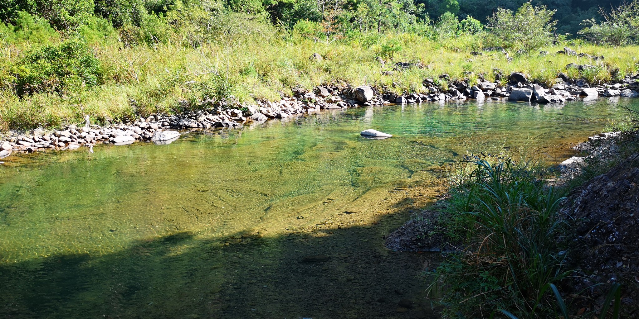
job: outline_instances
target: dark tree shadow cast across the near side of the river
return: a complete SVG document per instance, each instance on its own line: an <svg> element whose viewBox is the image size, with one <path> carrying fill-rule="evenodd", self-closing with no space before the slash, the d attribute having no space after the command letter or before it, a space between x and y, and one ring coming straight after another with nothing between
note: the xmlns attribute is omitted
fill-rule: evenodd
<svg viewBox="0 0 639 319"><path fill-rule="evenodd" d="M437 318L416 278L436 256L383 247L408 209L276 237L180 232L108 255L4 263L0 318ZM415 306L397 313L401 299Z"/></svg>

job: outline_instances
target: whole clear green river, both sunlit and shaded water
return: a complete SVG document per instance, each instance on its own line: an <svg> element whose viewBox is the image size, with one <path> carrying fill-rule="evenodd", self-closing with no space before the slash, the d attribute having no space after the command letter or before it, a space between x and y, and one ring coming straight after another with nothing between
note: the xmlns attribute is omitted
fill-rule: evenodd
<svg viewBox="0 0 639 319"><path fill-rule="evenodd" d="M0 318L436 318L415 277L435 257L381 236L464 154L558 163L624 116L617 103L638 104L351 108L5 158Z"/></svg>

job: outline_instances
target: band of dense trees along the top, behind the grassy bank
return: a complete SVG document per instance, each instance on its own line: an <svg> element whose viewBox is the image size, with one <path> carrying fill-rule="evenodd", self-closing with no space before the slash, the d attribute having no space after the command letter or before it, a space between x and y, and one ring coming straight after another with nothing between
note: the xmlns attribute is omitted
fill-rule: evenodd
<svg viewBox="0 0 639 319"><path fill-rule="evenodd" d="M15 24L20 11L26 11L50 22L57 30L87 24L92 17L111 22L113 27L147 27L158 23L158 18L173 19L173 24L194 6L207 11L231 10L261 15L266 13L274 24L288 29L300 20L323 22L327 17L335 20L339 29L394 29L416 22L438 20L444 13L465 19L473 17L487 22L498 8L516 10L524 0L7 0L0 4L0 19ZM612 10L620 1L549 1L535 0L534 6L547 6L555 10L557 33L574 36L583 27L583 21L602 20L600 10ZM177 12L174 12L177 11ZM339 22L339 23L338 23ZM96 23L93 21L92 23ZM153 35L155 36L155 35Z"/></svg>

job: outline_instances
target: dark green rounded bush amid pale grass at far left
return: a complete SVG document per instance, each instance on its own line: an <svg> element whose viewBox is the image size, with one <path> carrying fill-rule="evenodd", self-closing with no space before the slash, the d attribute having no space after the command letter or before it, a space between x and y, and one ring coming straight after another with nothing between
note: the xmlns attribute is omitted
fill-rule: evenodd
<svg viewBox="0 0 639 319"><path fill-rule="evenodd" d="M19 95L61 91L69 85L100 84L103 72L91 48L79 40L66 40L32 50L12 68Z"/></svg>

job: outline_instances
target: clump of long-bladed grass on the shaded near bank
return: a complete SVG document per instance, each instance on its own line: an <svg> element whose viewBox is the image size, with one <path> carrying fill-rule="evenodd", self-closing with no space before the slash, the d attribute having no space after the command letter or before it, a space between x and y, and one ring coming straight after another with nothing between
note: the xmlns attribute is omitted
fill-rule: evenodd
<svg viewBox="0 0 639 319"><path fill-rule="evenodd" d="M551 285L571 276L558 239L562 197L543 167L511 158L466 158L442 217L458 251L435 271L429 289L446 318L555 318Z"/></svg>

